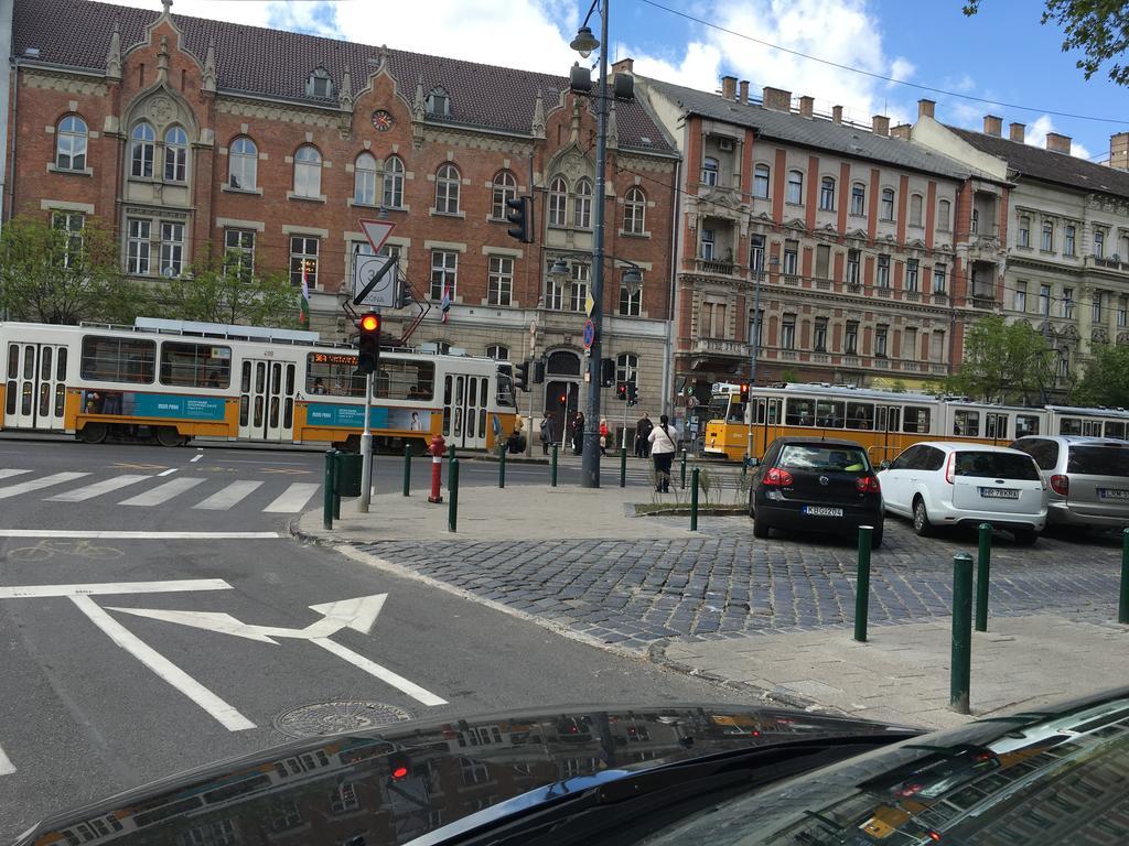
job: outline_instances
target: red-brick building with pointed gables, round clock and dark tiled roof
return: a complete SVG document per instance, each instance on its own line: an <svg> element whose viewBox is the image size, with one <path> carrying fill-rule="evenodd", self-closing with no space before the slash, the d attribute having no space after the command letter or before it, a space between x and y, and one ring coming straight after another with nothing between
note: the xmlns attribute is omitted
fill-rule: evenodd
<svg viewBox="0 0 1129 846"><path fill-rule="evenodd" d="M190 273L209 256L303 273L313 325L353 331L343 303L370 252L358 220L395 224L410 290L388 311L409 343L545 356L533 409L584 395L596 120L567 80L85 0L16 0L6 215L78 232L100 219L131 276ZM65 20L60 27L58 21ZM562 69L566 70L566 69ZM656 407L664 391L677 151L638 102L610 121L604 354ZM534 244L507 235L505 200L534 197ZM563 287L546 279L558 258ZM622 292L614 265L642 271ZM453 293L447 320L439 301ZM668 379L667 379L668 381ZM618 415L614 391L606 412ZM530 397L520 397L523 408Z"/></svg>

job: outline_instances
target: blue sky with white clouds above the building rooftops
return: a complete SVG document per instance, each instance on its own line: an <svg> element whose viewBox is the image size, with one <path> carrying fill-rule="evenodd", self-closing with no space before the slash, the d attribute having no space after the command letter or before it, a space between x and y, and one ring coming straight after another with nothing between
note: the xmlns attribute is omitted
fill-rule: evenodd
<svg viewBox="0 0 1129 846"><path fill-rule="evenodd" d="M160 8L159 0L117 2ZM753 90L774 86L809 95L820 112L841 105L860 123L875 114L912 122L917 99L928 97L946 123L980 129L984 114L999 115L1005 126L1025 123L1027 141L1039 146L1048 132L1070 135L1074 153L1094 160L1109 150L1110 134L1129 130L1129 89L1104 76L1084 80L1075 56L1059 49L1061 34L1040 25L1039 0L983 0L973 18L961 14L962 0L609 3L612 58L631 56L636 72L672 82L714 90L729 73L750 80ZM563 76L578 59L568 43L588 3L174 0L173 9ZM592 26L598 33L598 20Z"/></svg>

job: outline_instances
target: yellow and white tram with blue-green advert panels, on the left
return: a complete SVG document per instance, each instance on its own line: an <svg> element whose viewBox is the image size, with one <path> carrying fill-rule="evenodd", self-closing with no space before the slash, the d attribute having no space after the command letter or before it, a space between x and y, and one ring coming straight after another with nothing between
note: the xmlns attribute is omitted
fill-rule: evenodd
<svg viewBox="0 0 1129 846"><path fill-rule="evenodd" d="M89 442L192 438L356 449L356 350L316 333L139 318L137 326L0 323L0 430ZM492 449L517 417L509 362L382 350L369 423L378 447Z"/></svg>

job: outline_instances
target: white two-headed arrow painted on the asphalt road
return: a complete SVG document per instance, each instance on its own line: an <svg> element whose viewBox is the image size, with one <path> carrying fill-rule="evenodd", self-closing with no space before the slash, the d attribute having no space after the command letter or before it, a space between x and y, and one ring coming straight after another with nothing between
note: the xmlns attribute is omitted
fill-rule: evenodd
<svg viewBox="0 0 1129 846"><path fill-rule="evenodd" d="M387 593L375 593L368 597L356 597L353 599L341 599L335 602L312 605L309 606L310 610L321 614L322 619L316 623L312 623L305 628L254 626L248 623L243 623L229 614L217 611L168 611L156 608L120 607L111 608L110 610L132 614L137 617L148 617L149 619L164 620L166 623L176 623L178 625L191 626L193 628L203 628L209 632L229 634L236 637L246 637L261 643L275 643L275 641L272 640L274 637L289 637L294 640L309 641L310 643L321 646L323 650L332 652L338 658L348 661L353 667L364 670L368 675L375 676L401 693L411 696L413 699L422 703L423 705L446 705L446 699L436 696L430 690L427 690L419 685L409 681L403 676L393 672L388 668L353 652L348 646L342 646L341 644L329 640L330 636L340 632L342 628L352 628L361 634L368 634L371 631L373 625L376 623L376 617L380 613L380 609L384 608L384 601L387 597Z"/></svg>

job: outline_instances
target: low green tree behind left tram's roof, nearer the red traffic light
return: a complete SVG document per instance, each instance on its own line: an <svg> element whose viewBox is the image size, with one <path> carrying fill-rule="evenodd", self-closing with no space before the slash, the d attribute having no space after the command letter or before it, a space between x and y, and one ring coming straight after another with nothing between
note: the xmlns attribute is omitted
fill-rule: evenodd
<svg viewBox="0 0 1129 846"><path fill-rule="evenodd" d="M298 291L285 273L257 273L231 253L158 283L154 300L160 317L174 320L295 326Z"/></svg>

